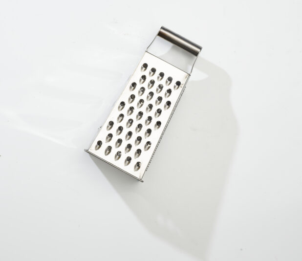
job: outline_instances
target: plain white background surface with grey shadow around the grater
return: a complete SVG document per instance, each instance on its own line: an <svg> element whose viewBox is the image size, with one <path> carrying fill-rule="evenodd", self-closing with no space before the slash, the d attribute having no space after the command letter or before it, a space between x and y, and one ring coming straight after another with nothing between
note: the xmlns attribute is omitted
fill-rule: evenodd
<svg viewBox="0 0 302 261"><path fill-rule="evenodd" d="M302 2L0 2L0 260L301 261ZM203 46L144 183L88 148L161 25Z"/></svg>

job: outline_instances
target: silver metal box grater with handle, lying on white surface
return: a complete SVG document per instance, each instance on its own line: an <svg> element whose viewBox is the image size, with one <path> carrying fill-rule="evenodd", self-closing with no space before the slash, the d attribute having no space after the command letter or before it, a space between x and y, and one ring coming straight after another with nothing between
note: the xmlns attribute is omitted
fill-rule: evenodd
<svg viewBox="0 0 302 261"><path fill-rule="evenodd" d="M156 36L192 53L195 61L201 51L201 46L165 27L161 27ZM190 73L185 72L149 53L151 44L86 150L139 181L143 181L192 72L192 69Z"/></svg>

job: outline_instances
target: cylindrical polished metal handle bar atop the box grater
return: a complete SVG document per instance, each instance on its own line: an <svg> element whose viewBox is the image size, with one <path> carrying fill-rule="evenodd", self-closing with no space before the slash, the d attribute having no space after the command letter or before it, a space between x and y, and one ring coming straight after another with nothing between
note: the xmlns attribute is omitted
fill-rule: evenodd
<svg viewBox="0 0 302 261"><path fill-rule="evenodd" d="M169 30L168 28L162 26L160 30L157 33L157 36L160 36L161 38L169 41L170 43L173 43L186 51L194 54L195 56L198 56L198 54L201 51L201 46L191 42L190 40L182 37L179 34L174 33L173 31Z"/></svg>

